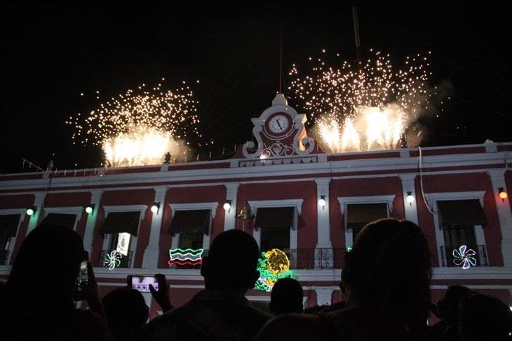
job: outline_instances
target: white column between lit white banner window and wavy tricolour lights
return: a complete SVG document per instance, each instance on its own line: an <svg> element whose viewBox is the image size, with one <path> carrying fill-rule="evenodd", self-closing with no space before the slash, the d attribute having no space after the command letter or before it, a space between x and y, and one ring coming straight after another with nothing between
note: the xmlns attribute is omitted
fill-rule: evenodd
<svg viewBox="0 0 512 341"><path fill-rule="evenodd" d="M159 267L160 255L160 232L162 227L163 211L165 209L166 194L168 187L155 187L154 202L160 203L159 211L153 213L151 218L151 229L149 230L149 242L146 250L144 251L144 258L142 259L142 267L148 269L156 269Z"/></svg>

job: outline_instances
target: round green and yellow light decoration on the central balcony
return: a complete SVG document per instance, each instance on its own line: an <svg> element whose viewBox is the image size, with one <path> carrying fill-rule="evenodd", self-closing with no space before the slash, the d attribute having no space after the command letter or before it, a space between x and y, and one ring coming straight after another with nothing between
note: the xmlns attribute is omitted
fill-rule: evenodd
<svg viewBox="0 0 512 341"><path fill-rule="evenodd" d="M290 270L290 260L283 251L277 248L262 253L262 258L258 260L258 271L260 278L256 281L255 288L267 292L272 290L278 279L293 276L293 272Z"/></svg>

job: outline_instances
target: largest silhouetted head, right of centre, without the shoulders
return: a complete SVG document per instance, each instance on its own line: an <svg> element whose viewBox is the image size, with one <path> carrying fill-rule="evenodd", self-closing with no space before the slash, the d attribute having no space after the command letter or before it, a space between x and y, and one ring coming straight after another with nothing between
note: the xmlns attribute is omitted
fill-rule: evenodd
<svg viewBox="0 0 512 341"><path fill-rule="evenodd" d="M429 316L431 253L412 222L383 219L359 232L345 253L341 287L347 305L380 312L410 330Z"/></svg>

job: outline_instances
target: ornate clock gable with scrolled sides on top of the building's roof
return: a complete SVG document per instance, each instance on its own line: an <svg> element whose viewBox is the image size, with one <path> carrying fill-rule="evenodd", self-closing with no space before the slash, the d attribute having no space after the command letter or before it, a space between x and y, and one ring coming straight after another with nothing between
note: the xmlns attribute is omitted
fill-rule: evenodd
<svg viewBox="0 0 512 341"><path fill-rule="evenodd" d="M252 134L255 142L248 141L242 147L242 154L247 159L267 159L279 156L306 156L323 154L318 142L309 138L304 128L305 114L297 114L288 106L282 93L272 100L272 106L260 117L252 119Z"/></svg>

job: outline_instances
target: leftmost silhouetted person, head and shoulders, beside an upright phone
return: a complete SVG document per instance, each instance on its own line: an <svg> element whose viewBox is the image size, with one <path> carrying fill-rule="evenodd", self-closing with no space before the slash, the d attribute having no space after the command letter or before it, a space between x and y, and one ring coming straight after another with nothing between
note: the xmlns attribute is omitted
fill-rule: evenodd
<svg viewBox="0 0 512 341"><path fill-rule="evenodd" d="M4 340L112 340L90 263L84 288L90 310L73 295L82 240L67 227L42 225L20 247L6 283L0 330Z"/></svg>

